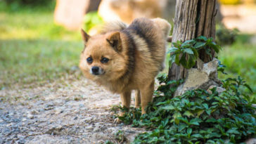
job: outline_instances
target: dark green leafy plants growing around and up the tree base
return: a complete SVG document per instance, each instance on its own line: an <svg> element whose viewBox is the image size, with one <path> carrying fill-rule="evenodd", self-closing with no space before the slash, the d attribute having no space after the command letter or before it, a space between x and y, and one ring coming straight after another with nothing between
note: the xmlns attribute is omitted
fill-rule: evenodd
<svg viewBox="0 0 256 144"><path fill-rule="evenodd" d="M196 57L196 48L204 48L201 46L211 40L200 37L203 41L196 41L198 38L174 43L170 52L171 58L173 55L176 58L171 59L172 63L193 67L193 59L184 59L182 63L183 56L179 60L179 54L188 53L189 56ZM219 51L215 43L209 41L209 44L215 46L214 51ZM220 68L225 74L224 66L219 65ZM186 91L176 97L173 94L182 80L168 81L165 75L158 80L160 86L155 91L156 97L147 107L146 114L141 117L140 110L132 108L131 112L118 117L124 124L145 126L150 130L136 136L133 143L243 143L256 136L256 107L252 106L252 89L241 77L235 79L229 76L222 80L221 87L225 91L221 93L215 87L210 91ZM248 89L250 94L244 89ZM127 111L122 107L120 110Z"/></svg>

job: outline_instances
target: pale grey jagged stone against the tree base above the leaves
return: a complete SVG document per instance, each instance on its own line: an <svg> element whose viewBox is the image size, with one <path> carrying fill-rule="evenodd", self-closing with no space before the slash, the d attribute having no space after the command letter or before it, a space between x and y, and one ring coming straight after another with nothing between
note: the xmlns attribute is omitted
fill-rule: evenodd
<svg viewBox="0 0 256 144"><path fill-rule="evenodd" d="M180 96L185 91L193 89L209 89L210 86L219 86L217 80L218 60L214 58L209 63L205 63L202 69L191 68L186 74L184 84L181 84L174 96Z"/></svg>

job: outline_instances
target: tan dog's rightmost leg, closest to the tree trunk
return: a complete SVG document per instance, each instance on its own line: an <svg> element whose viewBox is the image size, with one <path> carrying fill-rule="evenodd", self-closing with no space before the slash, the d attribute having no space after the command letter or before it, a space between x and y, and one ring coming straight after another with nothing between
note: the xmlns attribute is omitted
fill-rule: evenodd
<svg viewBox="0 0 256 144"><path fill-rule="evenodd" d="M146 106L149 102L152 101L153 93L154 93L154 84L155 80L153 80L149 84L145 84L141 88L141 114L146 114Z"/></svg>

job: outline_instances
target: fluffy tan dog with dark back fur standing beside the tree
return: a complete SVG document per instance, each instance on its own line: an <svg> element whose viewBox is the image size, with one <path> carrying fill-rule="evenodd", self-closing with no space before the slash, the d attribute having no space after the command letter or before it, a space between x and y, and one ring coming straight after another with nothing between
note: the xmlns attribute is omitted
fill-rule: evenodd
<svg viewBox="0 0 256 144"><path fill-rule="evenodd" d="M122 106L128 110L135 90L135 107L141 104L141 114L145 114L155 77L165 67L170 29L169 22L161 18L136 18L130 25L110 22L95 36L81 30L84 50L79 68L87 79L120 93Z"/></svg>

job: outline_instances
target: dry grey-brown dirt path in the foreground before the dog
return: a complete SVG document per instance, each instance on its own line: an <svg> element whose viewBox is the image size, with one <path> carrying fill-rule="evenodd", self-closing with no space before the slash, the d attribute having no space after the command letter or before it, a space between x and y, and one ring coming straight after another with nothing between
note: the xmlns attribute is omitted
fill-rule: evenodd
<svg viewBox="0 0 256 144"><path fill-rule="evenodd" d="M1 90L0 144L115 142L119 130L129 143L143 129L113 122L110 107L119 103L86 79Z"/></svg>

